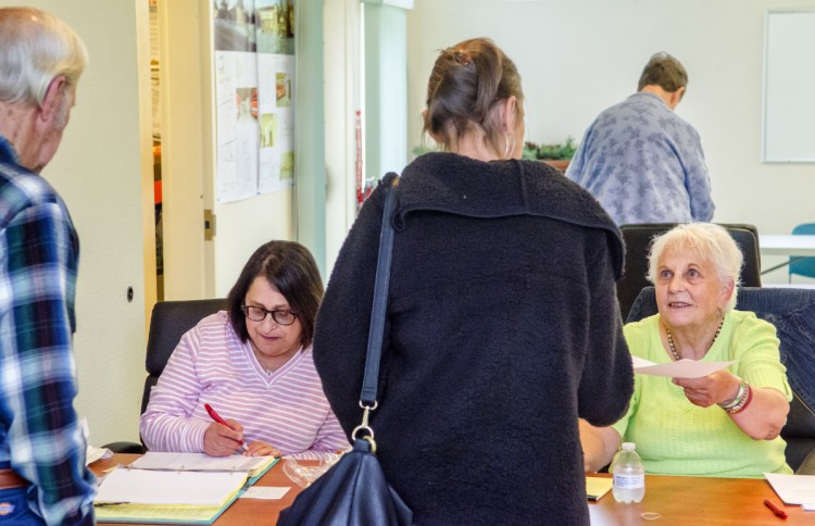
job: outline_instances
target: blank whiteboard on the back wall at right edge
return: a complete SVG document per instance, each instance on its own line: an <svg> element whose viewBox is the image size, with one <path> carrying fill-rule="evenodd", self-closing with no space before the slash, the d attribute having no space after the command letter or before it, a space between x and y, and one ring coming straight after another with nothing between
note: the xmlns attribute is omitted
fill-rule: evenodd
<svg viewBox="0 0 815 526"><path fill-rule="evenodd" d="M762 160L815 162L815 11L768 11Z"/></svg>

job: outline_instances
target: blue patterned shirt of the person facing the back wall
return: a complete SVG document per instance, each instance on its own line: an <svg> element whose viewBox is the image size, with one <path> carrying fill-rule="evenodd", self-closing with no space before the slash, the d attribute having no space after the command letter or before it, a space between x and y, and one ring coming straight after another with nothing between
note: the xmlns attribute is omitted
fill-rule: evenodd
<svg viewBox="0 0 815 526"><path fill-rule="evenodd" d="M635 93L602 112L566 177L594 196L617 225L713 218L699 133L653 93Z"/></svg>

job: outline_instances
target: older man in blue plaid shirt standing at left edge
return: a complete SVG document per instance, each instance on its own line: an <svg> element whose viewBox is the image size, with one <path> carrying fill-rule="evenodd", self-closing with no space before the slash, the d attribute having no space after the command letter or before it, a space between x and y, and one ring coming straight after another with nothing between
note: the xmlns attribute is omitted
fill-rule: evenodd
<svg viewBox="0 0 815 526"><path fill-rule="evenodd" d="M39 176L86 61L63 22L0 9L0 525L93 524L95 477L73 406L79 240Z"/></svg>

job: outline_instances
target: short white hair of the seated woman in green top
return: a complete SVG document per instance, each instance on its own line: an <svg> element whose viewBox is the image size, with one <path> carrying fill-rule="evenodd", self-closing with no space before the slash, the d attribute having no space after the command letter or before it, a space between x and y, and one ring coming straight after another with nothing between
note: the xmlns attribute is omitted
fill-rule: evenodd
<svg viewBox="0 0 815 526"><path fill-rule="evenodd" d="M656 237L648 254L648 279L656 284L659 262L665 250L681 252L692 250L702 260L710 261L716 268L720 281L732 280L734 286L741 285L741 266L744 255L727 229L713 223L687 223L677 225ZM725 305L726 311L736 306L736 292Z"/></svg>

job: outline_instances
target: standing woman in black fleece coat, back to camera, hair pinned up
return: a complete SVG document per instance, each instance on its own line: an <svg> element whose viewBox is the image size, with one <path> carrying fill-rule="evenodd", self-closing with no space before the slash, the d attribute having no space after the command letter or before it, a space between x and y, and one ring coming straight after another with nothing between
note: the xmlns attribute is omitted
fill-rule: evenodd
<svg viewBox="0 0 815 526"><path fill-rule="evenodd" d="M416 159L399 185L371 425L416 524L588 524L578 416L611 424L631 396L619 234L585 190L518 160L523 103L492 41L441 51L424 130L446 152ZM347 434L362 414L385 196L380 185L362 208L315 328Z"/></svg>

